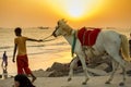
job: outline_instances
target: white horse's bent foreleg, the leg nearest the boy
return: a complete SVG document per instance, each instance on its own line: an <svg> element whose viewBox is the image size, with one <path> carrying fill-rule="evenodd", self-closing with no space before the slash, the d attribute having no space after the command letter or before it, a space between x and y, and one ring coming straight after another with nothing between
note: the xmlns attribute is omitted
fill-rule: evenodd
<svg viewBox="0 0 131 87"><path fill-rule="evenodd" d="M78 58L78 57L75 57L75 58L71 61L68 82L70 82L70 80L72 79L73 69L74 69L74 66L76 65L78 61L79 61L79 58Z"/></svg>

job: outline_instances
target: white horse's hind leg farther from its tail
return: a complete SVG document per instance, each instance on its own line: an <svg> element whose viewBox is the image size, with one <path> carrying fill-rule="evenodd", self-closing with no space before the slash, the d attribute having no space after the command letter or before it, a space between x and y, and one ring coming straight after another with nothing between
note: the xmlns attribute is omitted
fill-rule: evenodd
<svg viewBox="0 0 131 87"><path fill-rule="evenodd" d="M112 60L112 73L111 73L109 79L108 79L105 84L110 84L110 82L112 80L114 75L115 75L115 73L116 73L116 71L117 71L117 69L118 69L118 66L119 66L119 63L116 62L115 60Z"/></svg>

